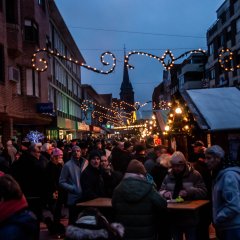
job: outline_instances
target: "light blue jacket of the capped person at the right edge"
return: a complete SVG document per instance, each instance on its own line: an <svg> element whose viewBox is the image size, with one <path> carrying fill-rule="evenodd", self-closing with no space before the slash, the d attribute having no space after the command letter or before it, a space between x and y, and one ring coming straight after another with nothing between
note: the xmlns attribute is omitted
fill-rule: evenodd
<svg viewBox="0 0 240 240"><path fill-rule="evenodd" d="M240 228L240 167L221 170L213 182L213 223L217 229Z"/></svg>

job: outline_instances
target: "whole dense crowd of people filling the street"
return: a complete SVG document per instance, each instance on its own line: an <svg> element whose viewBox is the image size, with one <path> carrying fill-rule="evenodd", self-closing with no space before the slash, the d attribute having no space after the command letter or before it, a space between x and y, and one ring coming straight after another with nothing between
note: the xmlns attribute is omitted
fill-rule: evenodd
<svg viewBox="0 0 240 240"><path fill-rule="evenodd" d="M211 223L218 239L240 239L240 154L233 161L218 145L196 141L192 147L186 158L135 138L9 140L0 145L0 239L38 239L40 222L69 240L209 240ZM98 197L112 199L118 223L96 209L79 211L77 203ZM177 198L209 200L197 226L169 218L167 201ZM63 206L67 229L60 222ZM44 209L52 217L44 217Z"/></svg>

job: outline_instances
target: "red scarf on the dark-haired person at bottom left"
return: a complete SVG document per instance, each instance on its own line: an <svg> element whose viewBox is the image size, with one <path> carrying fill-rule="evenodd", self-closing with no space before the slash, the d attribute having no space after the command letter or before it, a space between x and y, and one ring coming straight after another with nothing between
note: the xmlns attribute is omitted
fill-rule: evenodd
<svg viewBox="0 0 240 240"><path fill-rule="evenodd" d="M28 206L27 200L23 195L21 199L13 199L0 202L0 223L11 217L14 213Z"/></svg>

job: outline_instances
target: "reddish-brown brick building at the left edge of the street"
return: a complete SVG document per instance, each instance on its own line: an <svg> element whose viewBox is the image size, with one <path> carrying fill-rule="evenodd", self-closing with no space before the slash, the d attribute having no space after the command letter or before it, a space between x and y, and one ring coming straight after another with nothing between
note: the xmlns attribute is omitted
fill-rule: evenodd
<svg viewBox="0 0 240 240"><path fill-rule="evenodd" d="M43 131L52 117L37 113L48 101L49 70L32 68L34 51L46 45L49 15L44 1L0 2L0 141L23 139L29 130Z"/></svg>

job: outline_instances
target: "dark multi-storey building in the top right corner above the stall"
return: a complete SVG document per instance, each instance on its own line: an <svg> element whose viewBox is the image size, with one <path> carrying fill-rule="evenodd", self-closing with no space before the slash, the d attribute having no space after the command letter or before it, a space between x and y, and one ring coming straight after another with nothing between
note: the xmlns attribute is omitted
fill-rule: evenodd
<svg viewBox="0 0 240 240"><path fill-rule="evenodd" d="M240 84L240 0L226 0L217 10L217 20L207 31L208 87L239 86ZM229 49L232 60L229 60ZM220 59L221 51L226 58ZM222 60L223 67L219 64ZM226 70L228 68L228 70Z"/></svg>

